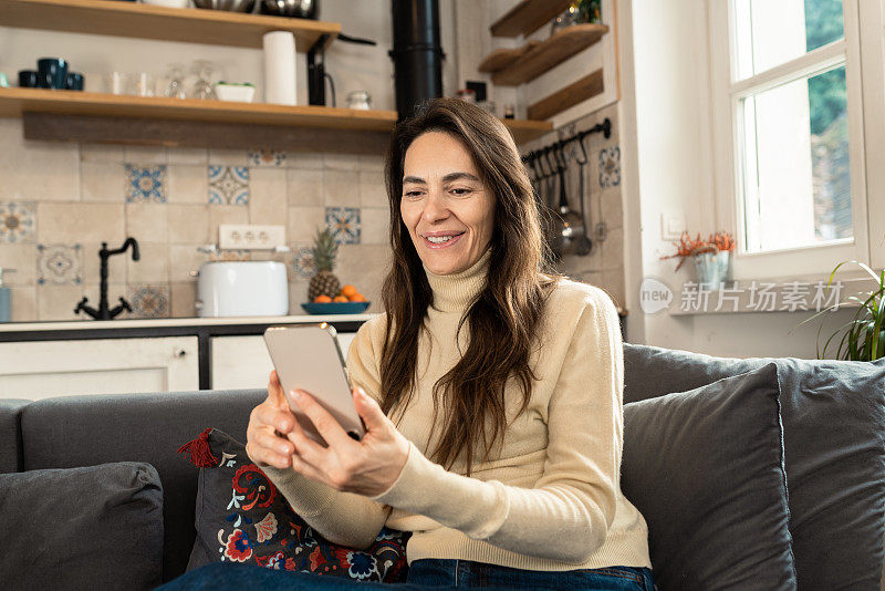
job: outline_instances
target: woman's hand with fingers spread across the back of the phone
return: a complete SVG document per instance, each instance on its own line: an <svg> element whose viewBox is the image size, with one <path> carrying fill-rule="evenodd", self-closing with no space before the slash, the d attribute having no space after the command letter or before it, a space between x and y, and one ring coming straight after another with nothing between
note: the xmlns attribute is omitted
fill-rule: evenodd
<svg viewBox="0 0 885 591"><path fill-rule="evenodd" d="M291 393L329 444L323 447L294 423L288 432L289 440L295 445L292 467L336 490L374 497L391 488L399 477L408 458L408 440L362 388L353 388L352 393L356 412L366 426L360 442L352 439L313 396L298 390Z"/></svg>

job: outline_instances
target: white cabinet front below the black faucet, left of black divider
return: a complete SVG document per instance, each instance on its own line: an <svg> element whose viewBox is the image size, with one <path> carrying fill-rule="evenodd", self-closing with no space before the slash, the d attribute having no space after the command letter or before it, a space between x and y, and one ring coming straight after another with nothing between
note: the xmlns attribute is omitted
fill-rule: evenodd
<svg viewBox="0 0 885 591"><path fill-rule="evenodd" d="M196 336L0 343L0 398L199 388Z"/></svg>

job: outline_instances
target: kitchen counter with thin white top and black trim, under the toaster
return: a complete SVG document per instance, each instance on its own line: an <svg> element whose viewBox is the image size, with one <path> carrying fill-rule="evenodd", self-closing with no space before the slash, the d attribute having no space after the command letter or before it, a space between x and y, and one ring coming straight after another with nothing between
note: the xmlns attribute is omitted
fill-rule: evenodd
<svg viewBox="0 0 885 591"><path fill-rule="evenodd" d="M261 335L268 326L319 322L329 322L339 333L355 333L365 321L376 315L296 314L287 317L9 322L0 323L0 343L196 336L199 387L200 390L211 390L212 339L217 336Z"/></svg>

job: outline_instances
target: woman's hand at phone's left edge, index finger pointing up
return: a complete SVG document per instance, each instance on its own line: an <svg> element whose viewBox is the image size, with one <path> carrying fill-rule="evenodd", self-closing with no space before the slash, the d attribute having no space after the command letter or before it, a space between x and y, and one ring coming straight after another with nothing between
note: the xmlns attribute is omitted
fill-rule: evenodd
<svg viewBox="0 0 885 591"><path fill-rule="evenodd" d="M295 426L277 372L270 373L268 400L252 408L246 429L246 454L259 467L288 468L295 452L285 435Z"/></svg>

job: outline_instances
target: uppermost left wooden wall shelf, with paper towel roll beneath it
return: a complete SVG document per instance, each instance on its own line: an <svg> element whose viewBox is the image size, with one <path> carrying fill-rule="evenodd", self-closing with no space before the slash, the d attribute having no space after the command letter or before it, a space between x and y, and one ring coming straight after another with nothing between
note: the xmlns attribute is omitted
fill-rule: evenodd
<svg viewBox="0 0 885 591"><path fill-rule="evenodd" d="M292 31L302 52L341 32L336 22L111 0L0 0L0 25L240 48L261 48L268 31Z"/></svg>

